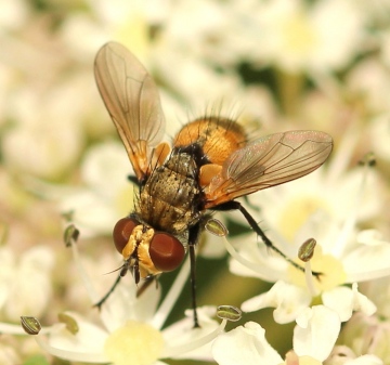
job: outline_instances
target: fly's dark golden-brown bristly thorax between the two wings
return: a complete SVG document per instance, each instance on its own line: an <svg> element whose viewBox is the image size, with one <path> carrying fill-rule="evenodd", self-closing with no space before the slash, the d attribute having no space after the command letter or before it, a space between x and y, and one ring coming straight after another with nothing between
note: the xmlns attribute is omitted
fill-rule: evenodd
<svg viewBox="0 0 390 365"><path fill-rule="evenodd" d="M181 234L200 219L202 194L194 157L176 151L147 179L135 212L156 230Z"/></svg>

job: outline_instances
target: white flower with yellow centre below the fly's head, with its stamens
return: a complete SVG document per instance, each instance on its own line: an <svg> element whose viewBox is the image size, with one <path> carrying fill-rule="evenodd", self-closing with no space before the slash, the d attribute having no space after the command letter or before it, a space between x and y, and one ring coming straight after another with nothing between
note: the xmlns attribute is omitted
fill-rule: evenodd
<svg viewBox="0 0 390 365"><path fill-rule="evenodd" d="M95 303L100 298L81 265L75 244L72 249L80 278ZM62 323L41 328L35 338L43 350L68 361L152 365L164 364L159 359L167 357L211 359L210 343L226 325L226 320L221 325L211 320L214 308L198 308L200 328L194 328L193 311L187 311L184 320L161 329L186 282L188 264L186 260L158 310L159 290L154 285L136 298L134 282L122 279L101 308L100 321L65 312L61 315ZM16 326L6 324L0 324L0 330L21 334Z"/></svg>

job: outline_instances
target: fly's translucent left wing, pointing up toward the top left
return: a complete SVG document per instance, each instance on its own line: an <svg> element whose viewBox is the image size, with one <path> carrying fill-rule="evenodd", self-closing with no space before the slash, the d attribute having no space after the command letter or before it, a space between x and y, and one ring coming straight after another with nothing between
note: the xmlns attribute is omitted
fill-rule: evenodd
<svg viewBox="0 0 390 365"><path fill-rule="evenodd" d="M139 181L151 173L152 149L161 141L165 119L157 87L140 61L123 45L104 44L94 75Z"/></svg>

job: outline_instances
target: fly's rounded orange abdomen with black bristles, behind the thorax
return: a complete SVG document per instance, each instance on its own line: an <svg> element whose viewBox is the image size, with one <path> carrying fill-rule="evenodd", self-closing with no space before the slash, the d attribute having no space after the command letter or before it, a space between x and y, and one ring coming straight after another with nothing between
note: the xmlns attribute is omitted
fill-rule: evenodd
<svg viewBox="0 0 390 365"><path fill-rule="evenodd" d="M236 149L247 142L244 128L235 120L206 117L185 125L174 139L174 147L199 145L208 162L222 165Z"/></svg>

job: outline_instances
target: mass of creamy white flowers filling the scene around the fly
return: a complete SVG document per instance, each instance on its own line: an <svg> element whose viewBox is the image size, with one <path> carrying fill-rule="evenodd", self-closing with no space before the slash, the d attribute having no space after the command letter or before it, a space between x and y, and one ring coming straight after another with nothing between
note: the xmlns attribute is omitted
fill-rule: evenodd
<svg viewBox="0 0 390 365"><path fill-rule="evenodd" d="M0 363L390 364L389 14L390 0L3 0ZM202 235L200 328L188 262L141 296L128 275L92 308L119 274L112 230L136 194L93 79L110 40L156 80L166 141L205 113L250 140L334 139L318 170L242 200L285 257L239 212L218 213L229 234ZM69 221L80 237L65 248Z"/></svg>

